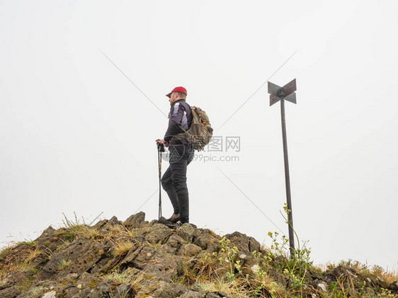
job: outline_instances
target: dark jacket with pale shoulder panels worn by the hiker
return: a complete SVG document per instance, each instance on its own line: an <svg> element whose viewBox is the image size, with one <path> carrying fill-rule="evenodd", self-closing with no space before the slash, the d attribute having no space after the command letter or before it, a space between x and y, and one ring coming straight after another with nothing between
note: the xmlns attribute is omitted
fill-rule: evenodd
<svg viewBox="0 0 398 298"><path fill-rule="evenodd" d="M171 105L169 114L169 127L167 128L166 134L164 134L164 140L169 142L174 135L183 132L181 127L183 127L184 130L188 130L189 127L191 127L191 124L191 107L188 105L188 103L186 103L185 99L178 99L178 101ZM188 142L184 139L183 144L188 144Z"/></svg>

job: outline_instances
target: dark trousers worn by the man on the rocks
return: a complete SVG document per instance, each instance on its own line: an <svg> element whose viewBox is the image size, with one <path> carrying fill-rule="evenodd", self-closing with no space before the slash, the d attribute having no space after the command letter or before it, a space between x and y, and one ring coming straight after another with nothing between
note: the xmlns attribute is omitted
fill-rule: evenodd
<svg viewBox="0 0 398 298"><path fill-rule="evenodd" d="M191 145L171 144L169 168L161 178L161 186L169 195L174 214L180 214L182 223L189 222L189 197L186 185L186 168L193 159Z"/></svg>

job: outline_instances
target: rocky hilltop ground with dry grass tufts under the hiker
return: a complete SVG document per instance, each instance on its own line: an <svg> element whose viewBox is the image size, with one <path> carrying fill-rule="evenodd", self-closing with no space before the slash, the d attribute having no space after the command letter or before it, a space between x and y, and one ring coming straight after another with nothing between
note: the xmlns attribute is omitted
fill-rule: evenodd
<svg viewBox="0 0 398 298"><path fill-rule="evenodd" d="M0 252L0 297L398 297L398 281L292 263L234 232L167 227L143 212L68 222ZM292 265L293 264L293 265Z"/></svg>

